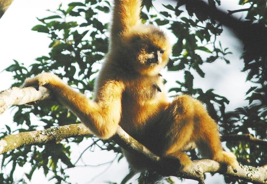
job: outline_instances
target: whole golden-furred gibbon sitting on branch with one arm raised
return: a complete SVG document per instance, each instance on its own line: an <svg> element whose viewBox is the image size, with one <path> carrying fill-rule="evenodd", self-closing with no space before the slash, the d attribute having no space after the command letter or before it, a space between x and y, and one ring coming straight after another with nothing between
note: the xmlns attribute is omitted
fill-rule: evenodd
<svg viewBox="0 0 267 184"><path fill-rule="evenodd" d="M75 92L59 77L42 73L27 78L26 86L45 86L99 138L112 137L120 125L159 156L191 166L183 152L192 143L201 155L236 169L233 153L223 151L217 124L196 99L181 95L167 101L160 70L171 54L163 31L144 25L141 0L115 0L109 52L95 84L94 100ZM124 152L132 169L149 169L134 153Z"/></svg>

